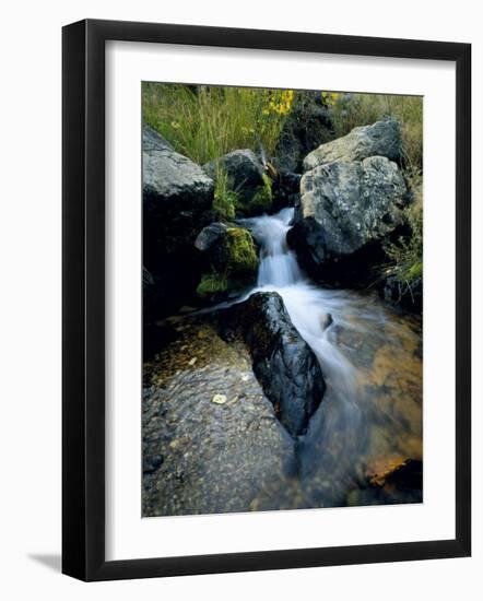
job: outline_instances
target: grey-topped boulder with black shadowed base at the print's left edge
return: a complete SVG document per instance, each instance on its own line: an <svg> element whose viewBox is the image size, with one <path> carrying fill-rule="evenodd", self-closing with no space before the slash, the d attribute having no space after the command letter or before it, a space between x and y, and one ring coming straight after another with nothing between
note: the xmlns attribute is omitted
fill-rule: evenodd
<svg viewBox="0 0 483 601"><path fill-rule="evenodd" d="M193 243L210 222L213 188L199 165L143 128L143 259L160 314L193 294L200 274Z"/></svg>

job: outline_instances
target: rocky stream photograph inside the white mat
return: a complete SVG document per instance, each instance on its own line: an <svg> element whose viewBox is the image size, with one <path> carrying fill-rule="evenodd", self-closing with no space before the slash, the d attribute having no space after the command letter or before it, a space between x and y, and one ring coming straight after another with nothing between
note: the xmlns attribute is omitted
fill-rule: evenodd
<svg viewBox="0 0 483 601"><path fill-rule="evenodd" d="M142 516L422 503L424 98L141 94Z"/></svg>

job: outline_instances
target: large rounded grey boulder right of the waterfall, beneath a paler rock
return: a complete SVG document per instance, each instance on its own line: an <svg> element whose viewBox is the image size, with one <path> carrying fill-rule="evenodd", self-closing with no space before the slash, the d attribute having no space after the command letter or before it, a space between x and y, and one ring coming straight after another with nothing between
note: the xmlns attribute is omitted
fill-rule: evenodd
<svg viewBox="0 0 483 601"><path fill-rule="evenodd" d="M321 165L302 178L288 244L305 269L330 281L344 262L374 264L381 241L402 224L407 200L399 167L384 156Z"/></svg>

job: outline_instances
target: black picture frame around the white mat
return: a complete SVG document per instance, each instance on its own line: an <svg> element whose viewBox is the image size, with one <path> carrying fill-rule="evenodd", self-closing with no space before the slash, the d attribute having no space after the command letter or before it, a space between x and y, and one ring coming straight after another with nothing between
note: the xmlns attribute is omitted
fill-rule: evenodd
<svg viewBox="0 0 483 601"><path fill-rule="evenodd" d="M456 63L456 538L105 559L105 43L432 59ZM62 31L62 571L82 580L464 557L471 553L471 45L86 20Z"/></svg>

